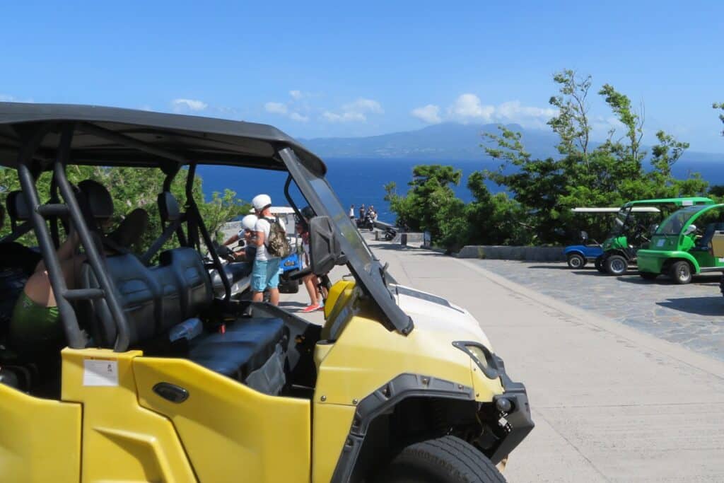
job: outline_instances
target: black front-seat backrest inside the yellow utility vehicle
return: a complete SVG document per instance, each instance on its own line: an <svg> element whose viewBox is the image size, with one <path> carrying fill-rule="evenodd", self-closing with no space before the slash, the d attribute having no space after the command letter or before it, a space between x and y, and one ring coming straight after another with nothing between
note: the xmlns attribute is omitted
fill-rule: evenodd
<svg viewBox="0 0 724 483"><path fill-rule="evenodd" d="M161 253L159 266L147 267L133 255L109 256L106 267L130 328L130 344L159 337L180 322L198 316L213 301L211 280L201 256L193 248ZM98 282L90 266L83 269L83 287ZM112 347L117 329L104 300L83 306L98 345Z"/></svg>

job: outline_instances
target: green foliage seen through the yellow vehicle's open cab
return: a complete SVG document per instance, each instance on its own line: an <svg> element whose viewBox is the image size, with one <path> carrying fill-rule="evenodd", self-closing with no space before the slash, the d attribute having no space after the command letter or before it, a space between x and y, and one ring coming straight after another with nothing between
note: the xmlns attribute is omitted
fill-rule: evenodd
<svg viewBox="0 0 724 483"><path fill-rule="evenodd" d="M112 219L114 226L122 220L125 214L133 209L143 208L148 211L148 230L146 230L138 245L133 247L138 253L146 251L161 234L161 219L156 198L163 189L165 175L160 169L70 165L67 167L66 174L68 180L73 184L92 179L100 182L109 190L114 201L114 217ZM188 171L182 169L171 185L171 192L180 203L183 203L186 199L187 174ZM50 198L50 182L50 173L43 172L36 183L41 201L47 201ZM4 205L7 193L19 189L20 182L17 179L17 172L14 169L0 169L0 203ZM217 232L225 222L240 214L248 213L251 207L237 199L236 193L229 189L224 190L224 193L214 192L210 200L205 200L202 180L198 175L194 178L193 198L198 203L199 212L209 233L216 238L219 237ZM0 235L4 236L10 232L9 220L6 220L6 222L5 226L0 230ZM21 238L20 242L27 245L37 245L32 232ZM172 248L174 243L176 243L174 240L169 240L164 248Z"/></svg>

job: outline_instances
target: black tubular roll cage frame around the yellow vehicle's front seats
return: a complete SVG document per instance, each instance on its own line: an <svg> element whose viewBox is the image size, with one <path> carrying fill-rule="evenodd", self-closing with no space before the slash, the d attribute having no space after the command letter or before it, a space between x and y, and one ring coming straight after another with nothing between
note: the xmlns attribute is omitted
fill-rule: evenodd
<svg viewBox="0 0 724 483"><path fill-rule="evenodd" d="M56 151L57 156L50 161L49 166L53 173L51 197L49 203L41 204L38 190L35 186L36 177L33 175L33 168L36 167L34 166L34 156L46 136L56 131L59 131L60 136ZM39 248L43 254L43 261L45 261L48 269L49 280L56 298L67 343L70 348L85 348L88 344L85 334L80 329L71 302L104 299L117 327L117 338L114 343L114 350L123 352L127 350L130 345L130 329L121 305L117 300L113 282L104 270L103 253L93 240L93 234L88 229L83 211L80 208L75 192L65 172L67 164L71 161L72 139L78 132L93 133L93 135L99 138L104 138L114 143L125 144L139 151L145 151L154 156L174 161L172 168L166 167L166 169L164 169L164 167L161 167L167 175L164 179L164 190L169 190L172 180L180 170L180 166L186 164L188 161L171 151L166 151L156 146L148 146L142 141L105 130L101 127L91 125L88 122L45 122L36 125L34 130L30 130L28 133L21 135L21 146L17 156L17 173L22 188L22 196L25 196L25 200L28 206L30 206L30 224L32 224L33 230L35 231ZM193 198L193 178L195 177L195 170L196 163L191 162L189 164L185 187L185 221L187 222L188 228L188 240L186 240L180 224L172 223L169 224L169 227L172 227L174 229L173 231L177 232L182 245L189 244L197 250L201 248L201 240L199 239L199 233L201 233L203 243L209 248L212 265L219 273L223 274L224 269L221 260L213 248L211 236L206 229L206 224L204 224L198 211L198 205ZM64 203L60 201L59 195L62 197ZM95 274L100 288L69 289L67 287L56 254L56 247L59 245L57 220L64 217L70 217L71 222L74 224L80 238L80 244L85 250L88 264L93 270L93 274ZM50 230L47 221L51 222ZM164 235L165 231L164 229ZM15 235L15 233L13 235ZM17 238L17 236L15 238ZM161 245L162 244L163 243L161 243ZM153 254L151 254L151 256L152 255ZM221 280L224 285L224 302L227 302L231 294L230 282L227 280L227 277L221 277Z"/></svg>

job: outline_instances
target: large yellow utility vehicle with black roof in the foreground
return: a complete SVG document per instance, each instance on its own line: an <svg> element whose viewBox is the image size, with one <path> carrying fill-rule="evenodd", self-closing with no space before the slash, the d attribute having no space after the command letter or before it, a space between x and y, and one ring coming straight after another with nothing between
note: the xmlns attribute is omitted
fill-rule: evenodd
<svg viewBox="0 0 724 483"><path fill-rule="evenodd" d="M311 266L296 276L340 264L351 274L329 287L322 327L230 300L227 277L214 296L208 269L224 266L216 251L209 264L201 256L213 243L193 198L200 164L288 173L290 206L315 214ZM175 248L144 256L146 264L104 253L101 205L66 175L77 165L161 170L158 245ZM12 327L0 331L0 481L504 481L494 465L534 426L525 387L468 311L393 282L323 161L284 133L207 117L0 103L0 167L17 173L25 206L9 236L37 238L62 329L58 349L39 355L15 351ZM41 175L51 178L49 199L38 194ZM173 198L175 177L185 178L185 200L170 210L161 200ZM76 286L56 253L59 220L85 254ZM198 334L170 337L198 324Z"/></svg>

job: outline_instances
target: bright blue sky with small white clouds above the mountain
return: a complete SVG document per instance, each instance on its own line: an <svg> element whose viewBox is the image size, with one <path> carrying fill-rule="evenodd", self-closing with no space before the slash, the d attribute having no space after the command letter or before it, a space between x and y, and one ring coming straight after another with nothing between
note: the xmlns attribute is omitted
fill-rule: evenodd
<svg viewBox="0 0 724 483"><path fill-rule="evenodd" d="M693 151L724 152L723 1L24 1L0 99L266 122L310 138L434 122L542 127L552 73L611 83ZM602 137L610 112L595 93Z"/></svg>

